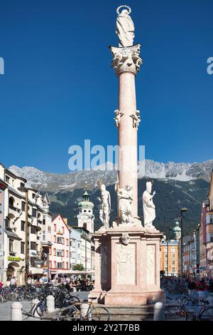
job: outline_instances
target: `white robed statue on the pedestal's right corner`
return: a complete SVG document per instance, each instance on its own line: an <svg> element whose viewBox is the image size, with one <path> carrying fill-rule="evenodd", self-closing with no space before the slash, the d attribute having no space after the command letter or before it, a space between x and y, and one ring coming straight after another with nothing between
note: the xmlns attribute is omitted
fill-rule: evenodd
<svg viewBox="0 0 213 335"><path fill-rule="evenodd" d="M146 182L146 191L143 192L143 220L144 227L153 227L153 221L155 220L155 205L153 204L152 183Z"/></svg>

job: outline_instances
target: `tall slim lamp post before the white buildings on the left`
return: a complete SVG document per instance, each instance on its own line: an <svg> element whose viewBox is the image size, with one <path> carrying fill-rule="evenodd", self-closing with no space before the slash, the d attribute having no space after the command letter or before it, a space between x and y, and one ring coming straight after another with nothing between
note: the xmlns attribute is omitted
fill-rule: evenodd
<svg viewBox="0 0 213 335"><path fill-rule="evenodd" d="M29 257L28 257L28 189L26 187L18 187L18 191L26 192L25 198L25 285L26 289L28 289L28 264L29 264Z"/></svg>

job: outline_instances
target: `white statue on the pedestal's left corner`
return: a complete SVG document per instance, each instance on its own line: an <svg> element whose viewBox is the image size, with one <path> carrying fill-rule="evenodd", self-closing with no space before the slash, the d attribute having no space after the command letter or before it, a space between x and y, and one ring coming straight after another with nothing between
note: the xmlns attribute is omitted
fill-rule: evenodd
<svg viewBox="0 0 213 335"><path fill-rule="evenodd" d="M102 221L103 227L109 228L109 216L111 212L111 198L110 193L106 190L104 184L100 184L102 198L98 197L100 204L99 218Z"/></svg>

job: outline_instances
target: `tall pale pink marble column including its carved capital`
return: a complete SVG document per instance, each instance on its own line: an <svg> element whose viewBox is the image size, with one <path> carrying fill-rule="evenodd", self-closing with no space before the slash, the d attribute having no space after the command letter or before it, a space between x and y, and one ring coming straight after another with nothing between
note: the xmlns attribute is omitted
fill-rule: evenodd
<svg viewBox="0 0 213 335"><path fill-rule="evenodd" d="M142 60L140 44L118 48L111 46L112 67L119 79L119 187L133 187L133 217L138 217L138 116L136 114L135 76Z"/></svg>

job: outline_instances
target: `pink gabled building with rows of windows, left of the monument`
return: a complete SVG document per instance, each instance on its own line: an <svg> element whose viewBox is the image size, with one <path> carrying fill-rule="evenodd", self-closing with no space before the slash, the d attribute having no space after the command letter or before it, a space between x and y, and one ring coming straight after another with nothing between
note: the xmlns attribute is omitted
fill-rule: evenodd
<svg viewBox="0 0 213 335"><path fill-rule="evenodd" d="M51 224L52 247L50 248L50 274L65 274L70 270L70 228L60 215Z"/></svg>

